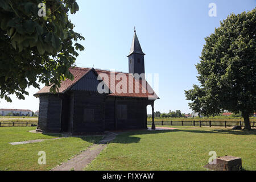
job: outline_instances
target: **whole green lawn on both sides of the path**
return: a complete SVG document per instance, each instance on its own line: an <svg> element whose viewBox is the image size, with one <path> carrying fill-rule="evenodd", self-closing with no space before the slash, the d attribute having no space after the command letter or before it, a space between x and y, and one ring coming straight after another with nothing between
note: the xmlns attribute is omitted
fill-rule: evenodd
<svg viewBox="0 0 256 182"><path fill-rule="evenodd" d="M164 126L168 127L168 126ZM86 170L205 170L209 152L242 158L245 170L256 170L256 130L170 126L170 131L129 131L108 144ZM70 137L13 146L9 142L50 139L29 133L35 127L0 127L0 170L49 170L86 150L102 137ZM46 152L46 165L38 152Z"/></svg>

